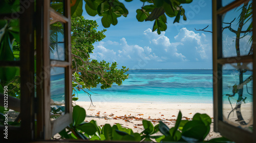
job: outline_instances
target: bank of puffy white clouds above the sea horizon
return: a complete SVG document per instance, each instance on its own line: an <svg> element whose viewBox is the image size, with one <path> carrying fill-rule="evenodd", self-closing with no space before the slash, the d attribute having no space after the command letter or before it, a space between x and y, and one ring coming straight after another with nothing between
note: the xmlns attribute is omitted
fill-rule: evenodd
<svg viewBox="0 0 256 143"><path fill-rule="evenodd" d="M144 36L144 37L143 37ZM120 41L106 41L96 43L92 59L107 62L118 61L120 65L133 63L135 68L144 68L152 63L166 62L205 62L211 60L210 38L205 34L198 34L181 28L175 37L168 37L165 32L160 35L150 28L144 31L142 42L130 44L123 37ZM134 41L133 41L134 42ZM137 67L136 67L137 66ZM133 68L130 66L130 68Z"/></svg>

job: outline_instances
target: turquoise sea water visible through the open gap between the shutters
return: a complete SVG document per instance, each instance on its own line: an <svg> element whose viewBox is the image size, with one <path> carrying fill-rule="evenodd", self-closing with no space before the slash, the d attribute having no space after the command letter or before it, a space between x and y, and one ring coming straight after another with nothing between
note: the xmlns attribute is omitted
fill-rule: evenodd
<svg viewBox="0 0 256 143"><path fill-rule="evenodd" d="M94 102L212 103L212 70L129 70L121 86L91 89ZM94 94L96 93L96 94ZM83 92L79 101L90 101Z"/></svg>

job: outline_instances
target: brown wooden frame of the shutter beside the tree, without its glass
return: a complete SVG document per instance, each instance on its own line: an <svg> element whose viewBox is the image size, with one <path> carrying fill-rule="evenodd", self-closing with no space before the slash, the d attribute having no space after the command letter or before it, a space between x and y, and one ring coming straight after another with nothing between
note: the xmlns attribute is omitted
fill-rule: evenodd
<svg viewBox="0 0 256 143"><path fill-rule="evenodd" d="M37 138L50 139L54 134L72 123L72 57L71 57L71 15L70 1L63 1L65 15L60 15L50 8L50 0L38 1L37 9ZM50 60L50 16L65 24L65 61ZM41 35L41 36L40 36ZM50 121L50 67L65 68L65 115ZM40 77L42 76L42 78Z"/></svg>

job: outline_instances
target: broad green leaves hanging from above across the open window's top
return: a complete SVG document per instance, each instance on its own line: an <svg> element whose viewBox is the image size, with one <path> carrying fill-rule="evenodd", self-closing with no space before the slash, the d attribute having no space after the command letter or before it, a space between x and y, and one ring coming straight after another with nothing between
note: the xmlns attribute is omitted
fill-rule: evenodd
<svg viewBox="0 0 256 143"><path fill-rule="evenodd" d="M180 21L180 17L183 16L183 20L186 20L185 10L182 8L182 4L189 4L193 0L140 0L143 6L136 10L136 18L138 21L154 21L153 32L157 30L160 34L161 31L167 29L166 15L169 17L175 17L174 23ZM110 27L110 25L116 25L118 17L126 17L129 11L125 8L124 4L118 0L84 0L86 3L85 9L90 16L101 16L101 22L104 27ZM132 0L125 0L125 2L132 2ZM148 5L145 5L148 4ZM72 17L81 16L82 14L82 0L72 1L71 3L71 15Z"/></svg>

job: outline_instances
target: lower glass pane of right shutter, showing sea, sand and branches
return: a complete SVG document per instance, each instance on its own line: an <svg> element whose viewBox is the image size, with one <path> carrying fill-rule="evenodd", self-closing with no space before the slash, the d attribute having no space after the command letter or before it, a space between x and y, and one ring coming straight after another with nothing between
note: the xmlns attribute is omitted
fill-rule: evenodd
<svg viewBox="0 0 256 143"><path fill-rule="evenodd" d="M223 121L252 132L252 63L225 64L222 72Z"/></svg>

